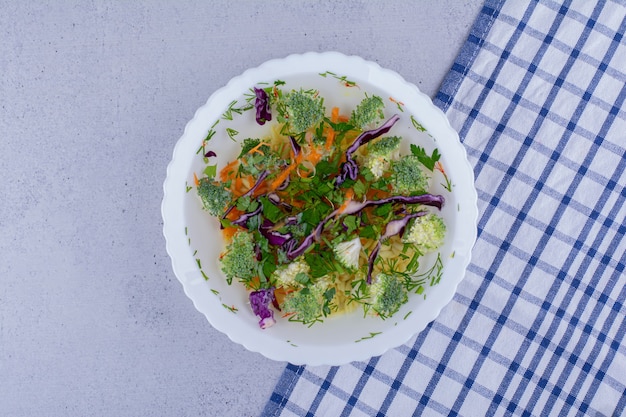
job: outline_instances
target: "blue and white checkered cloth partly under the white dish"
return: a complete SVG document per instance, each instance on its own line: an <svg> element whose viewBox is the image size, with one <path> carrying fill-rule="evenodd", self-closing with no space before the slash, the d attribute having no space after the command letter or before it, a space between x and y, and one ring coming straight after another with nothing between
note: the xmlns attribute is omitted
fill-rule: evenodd
<svg viewBox="0 0 626 417"><path fill-rule="evenodd" d="M288 365L263 416L626 414L626 5L487 0L435 103L474 166L478 241L404 346Z"/></svg>

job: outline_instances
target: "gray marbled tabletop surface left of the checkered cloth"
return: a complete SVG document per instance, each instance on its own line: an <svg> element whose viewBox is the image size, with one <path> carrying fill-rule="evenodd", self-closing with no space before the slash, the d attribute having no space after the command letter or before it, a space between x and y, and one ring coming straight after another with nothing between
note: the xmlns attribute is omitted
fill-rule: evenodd
<svg viewBox="0 0 626 417"><path fill-rule="evenodd" d="M0 1L0 415L256 416L285 363L184 295L160 203L231 77L337 50L433 96L482 4Z"/></svg>

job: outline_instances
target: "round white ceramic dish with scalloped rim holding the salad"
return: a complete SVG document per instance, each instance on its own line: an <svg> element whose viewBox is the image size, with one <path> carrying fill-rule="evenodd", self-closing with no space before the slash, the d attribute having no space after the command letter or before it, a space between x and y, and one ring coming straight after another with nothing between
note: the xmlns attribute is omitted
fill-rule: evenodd
<svg viewBox="0 0 626 417"><path fill-rule="evenodd" d="M442 155L449 182L439 175L431 190L446 199L441 215L448 232L440 249L443 261L440 281L427 287L423 294L412 294L409 303L387 320L364 318L358 309L312 327L278 319L276 325L263 330L250 310L245 289L238 283L227 285L220 272L217 256L224 246L219 223L202 210L195 188L192 189L194 173L200 175L206 166L202 152L198 151L208 132L214 131L206 148L218 154L219 170L238 154L238 141L262 137L269 126L260 127L254 122L254 110L239 114L236 109L246 103L246 94L253 86L275 80L286 81L281 87L284 89L318 89L326 99L327 109L331 101L333 106L354 108L364 92L378 94L389 100L386 106L389 115L401 116L390 134L403 136L406 149L410 143L416 143L429 152L438 148ZM346 82L354 82L356 86ZM233 120L228 120L229 108ZM229 132L234 140L229 138ZM408 341L450 302L463 279L476 239L478 210L473 171L458 134L445 115L428 96L397 73L336 52L270 60L234 77L216 91L185 127L174 148L163 188L161 210L167 252L176 277L196 309L232 341L268 358L294 364L339 365L364 360ZM434 255L425 258L424 269L435 259Z"/></svg>

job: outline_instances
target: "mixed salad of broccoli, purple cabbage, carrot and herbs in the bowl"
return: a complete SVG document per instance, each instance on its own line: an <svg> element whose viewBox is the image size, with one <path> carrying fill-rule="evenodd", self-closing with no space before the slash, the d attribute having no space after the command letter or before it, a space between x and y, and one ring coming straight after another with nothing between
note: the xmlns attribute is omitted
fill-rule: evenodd
<svg viewBox="0 0 626 417"><path fill-rule="evenodd" d="M403 154L399 115L386 117L381 97L346 109L283 85L251 89L245 109L271 134L241 141L219 171L194 174L226 242L221 270L249 291L262 328L275 315L312 325L357 308L391 317L440 276L439 257L420 272L445 238L444 198L429 193L440 155L416 145Z"/></svg>

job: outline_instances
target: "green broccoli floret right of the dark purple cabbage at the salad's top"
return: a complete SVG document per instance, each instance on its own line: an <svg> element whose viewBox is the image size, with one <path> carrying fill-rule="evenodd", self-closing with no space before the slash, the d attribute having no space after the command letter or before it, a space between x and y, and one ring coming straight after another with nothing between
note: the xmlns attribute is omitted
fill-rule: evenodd
<svg viewBox="0 0 626 417"><path fill-rule="evenodd" d="M324 118L324 100L312 92L292 91L285 98L285 107L293 134L306 131Z"/></svg>

